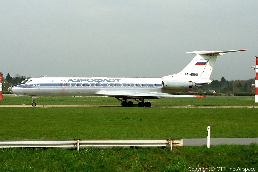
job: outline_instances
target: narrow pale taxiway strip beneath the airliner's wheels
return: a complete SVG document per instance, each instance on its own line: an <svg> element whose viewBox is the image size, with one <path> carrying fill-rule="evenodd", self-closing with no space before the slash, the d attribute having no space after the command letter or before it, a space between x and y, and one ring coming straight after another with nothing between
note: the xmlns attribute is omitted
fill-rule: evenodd
<svg viewBox="0 0 258 172"><path fill-rule="evenodd" d="M0 105L0 107L32 107L31 105ZM43 105L37 105L36 107L43 107ZM44 105L44 107L122 107L121 105ZM133 107L138 107L134 105ZM151 107L170 107L170 108L229 108L229 107L248 107L258 108L258 106L151 106Z"/></svg>

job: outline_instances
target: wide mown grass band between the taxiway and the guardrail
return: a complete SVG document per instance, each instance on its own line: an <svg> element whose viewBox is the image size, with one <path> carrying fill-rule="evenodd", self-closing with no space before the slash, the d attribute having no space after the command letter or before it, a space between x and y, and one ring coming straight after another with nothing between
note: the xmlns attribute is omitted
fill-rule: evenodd
<svg viewBox="0 0 258 172"><path fill-rule="evenodd" d="M257 108L4 107L0 139L258 137ZM248 127L247 127L248 126Z"/></svg>

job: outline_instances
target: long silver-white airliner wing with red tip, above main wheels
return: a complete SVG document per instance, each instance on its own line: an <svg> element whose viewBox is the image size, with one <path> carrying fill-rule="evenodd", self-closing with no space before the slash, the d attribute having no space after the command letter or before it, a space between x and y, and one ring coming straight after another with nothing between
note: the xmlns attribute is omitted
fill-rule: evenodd
<svg viewBox="0 0 258 172"><path fill-rule="evenodd" d="M127 96L130 98L142 98L142 99L152 99L152 98L162 98L162 97L206 97L203 95L176 95L176 94L167 94L167 93L157 93L157 92L136 92L130 93L126 91L107 91L101 90L96 93L101 96L110 96L110 97L123 97Z"/></svg>

